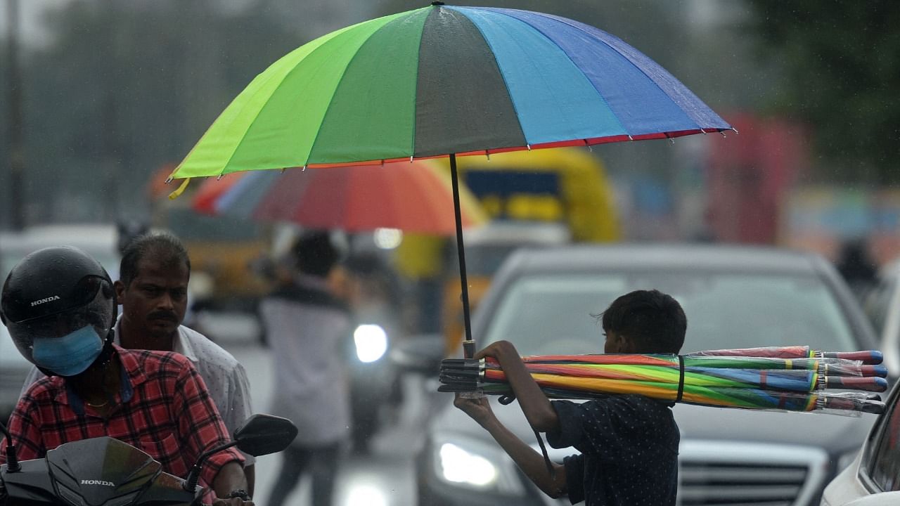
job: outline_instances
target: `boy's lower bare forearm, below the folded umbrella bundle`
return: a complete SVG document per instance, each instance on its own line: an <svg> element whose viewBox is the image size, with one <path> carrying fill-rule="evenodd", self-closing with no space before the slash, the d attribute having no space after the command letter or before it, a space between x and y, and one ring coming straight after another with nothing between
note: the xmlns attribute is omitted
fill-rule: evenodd
<svg viewBox="0 0 900 506"><path fill-rule="evenodd" d="M500 423L500 420L497 420L486 397L468 399L460 397L457 393L454 405L487 430L491 437L500 444L500 447L512 457L519 469L528 476L528 479L544 493L557 498L566 492L565 466L554 463L554 476L552 476L547 470L544 456L517 438Z"/></svg>

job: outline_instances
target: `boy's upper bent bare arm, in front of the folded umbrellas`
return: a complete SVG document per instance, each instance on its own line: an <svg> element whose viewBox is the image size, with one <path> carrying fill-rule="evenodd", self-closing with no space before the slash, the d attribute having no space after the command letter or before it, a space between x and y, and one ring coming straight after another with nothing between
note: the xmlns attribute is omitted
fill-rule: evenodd
<svg viewBox="0 0 900 506"><path fill-rule="evenodd" d="M518 405L525 413L532 429L539 432L551 432L560 427L559 418L553 405L535 379L528 373L522 357L518 356L516 347L509 341L497 341L475 354L474 358L494 357L500 362L500 368L506 375L509 386L516 394Z"/></svg>

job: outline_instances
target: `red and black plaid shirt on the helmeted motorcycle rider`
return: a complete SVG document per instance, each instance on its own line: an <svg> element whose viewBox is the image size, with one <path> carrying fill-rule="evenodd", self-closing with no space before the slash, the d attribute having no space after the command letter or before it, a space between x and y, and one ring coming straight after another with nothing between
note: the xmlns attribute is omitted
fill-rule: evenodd
<svg viewBox="0 0 900 506"><path fill-rule="evenodd" d="M122 365L121 392L106 419L85 405L58 376L24 393L9 419L19 460L42 458L69 441L109 436L138 447L163 470L185 477L202 452L229 442L219 411L191 361L176 353L115 347ZM6 461L0 446L0 464ZM243 462L233 447L202 467L205 483L229 462Z"/></svg>

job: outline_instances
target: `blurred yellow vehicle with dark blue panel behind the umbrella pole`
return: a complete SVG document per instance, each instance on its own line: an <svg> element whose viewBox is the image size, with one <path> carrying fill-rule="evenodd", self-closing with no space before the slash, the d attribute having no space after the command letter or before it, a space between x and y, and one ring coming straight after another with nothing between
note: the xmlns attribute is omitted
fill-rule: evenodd
<svg viewBox="0 0 900 506"><path fill-rule="evenodd" d="M621 238L612 189L602 162L588 149L536 149L457 158L460 178L477 196L491 222L466 230L464 246L469 303L474 310L500 263L515 248ZM448 168L449 170L449 168ZM448 355L463 336L455 254L446 240L407 236L397 254L402 274L443 276L441 327ZM451 242L455 239L449 239ZM478 337L475 336L477 341Z"/></svg>

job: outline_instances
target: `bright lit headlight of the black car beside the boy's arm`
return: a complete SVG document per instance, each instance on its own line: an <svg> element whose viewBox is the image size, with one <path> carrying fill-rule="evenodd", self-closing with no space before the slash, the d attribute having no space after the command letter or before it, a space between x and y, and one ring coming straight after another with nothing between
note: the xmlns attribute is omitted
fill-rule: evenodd
<svg viewBox="0 0 900 506"><path fill-rule="evenodd" d="M524 495L516 464L495 443L456 436L433 443L435 473L445 483L505 495Z"/></svg>

